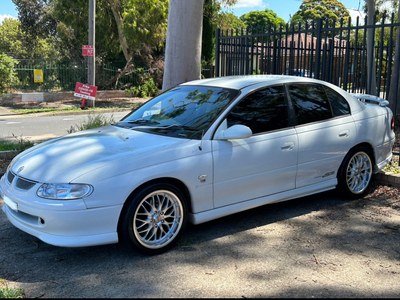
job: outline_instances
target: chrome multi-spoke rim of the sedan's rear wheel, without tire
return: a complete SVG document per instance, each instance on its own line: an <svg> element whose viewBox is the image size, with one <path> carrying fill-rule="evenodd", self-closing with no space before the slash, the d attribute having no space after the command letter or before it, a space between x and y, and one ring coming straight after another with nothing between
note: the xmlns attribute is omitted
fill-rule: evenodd
<svg viewBox="0 0 400 300"><path fill-rule="evenodd" d="M371 159L365 152L357 152L352 156L347 165L347 187L352 193L361 194L368 187L371 177Z"/></svg>

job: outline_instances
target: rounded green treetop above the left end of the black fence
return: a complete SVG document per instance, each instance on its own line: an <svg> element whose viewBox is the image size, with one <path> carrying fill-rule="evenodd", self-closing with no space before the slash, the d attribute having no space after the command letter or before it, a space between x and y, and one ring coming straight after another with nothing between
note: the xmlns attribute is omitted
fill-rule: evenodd
<svg viewBox="0 0 400 300"><path fill-rule="evenodd" d="M264 11L251 11L247 14L244 14L240 17L247 27L256 28L268 28L268 26L274 27L276 25L279 27L280 25L285 26L285 21L278 17L276 12L271 9L266 9Z"/></svg>

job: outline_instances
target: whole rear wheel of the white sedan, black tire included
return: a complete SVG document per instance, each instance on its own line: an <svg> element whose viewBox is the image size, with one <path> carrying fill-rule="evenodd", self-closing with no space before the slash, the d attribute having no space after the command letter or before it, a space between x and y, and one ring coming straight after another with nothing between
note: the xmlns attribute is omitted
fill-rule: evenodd
<svg viewBox="0 0 400 300"><path fill-rule="evenodd" d="M352 149L344 158L338 173L338 188L345 197L363 197L371 184L373 164L370 151L364 147Z"/></svg>

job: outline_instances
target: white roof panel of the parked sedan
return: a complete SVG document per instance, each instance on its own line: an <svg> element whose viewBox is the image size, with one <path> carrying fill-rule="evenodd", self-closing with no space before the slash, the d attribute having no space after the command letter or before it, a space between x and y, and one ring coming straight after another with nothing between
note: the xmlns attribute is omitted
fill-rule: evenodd
<svg viewBox="0 0 400 300"><path fill-rule="evenodd" d="M269 84L279 84L287 82L313 82L313 79L296 77L296 76L285 76L285 75L240 75L240 76L226 76L226 77L214 77L207 79L193 80L182 83L180 85L203 85L203 86L215 86L228 89L241 90L245 87L268 82ZM317 82L317 80L315 80Z"/></svg>

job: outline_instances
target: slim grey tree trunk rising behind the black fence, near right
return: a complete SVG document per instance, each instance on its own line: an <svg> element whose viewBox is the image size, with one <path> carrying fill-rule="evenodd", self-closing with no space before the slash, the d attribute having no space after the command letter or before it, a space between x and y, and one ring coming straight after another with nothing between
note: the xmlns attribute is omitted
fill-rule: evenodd
<svg viewBox="0 0 400 300"><path fill-rule="evenodd" d="M375 14L375 0L365 0L368 7L368 19L367 25L374 25L374 14ZM377 95L376 93L376 67L375 67L375 52L374 52L374 30L372 28L367 29L367 93ZM377 95L379 96L379 94Z"/></svg>

